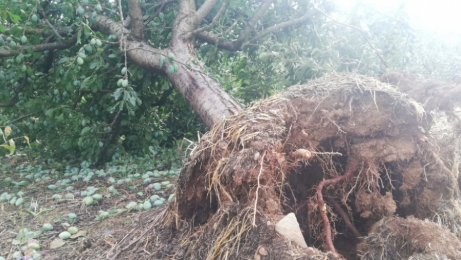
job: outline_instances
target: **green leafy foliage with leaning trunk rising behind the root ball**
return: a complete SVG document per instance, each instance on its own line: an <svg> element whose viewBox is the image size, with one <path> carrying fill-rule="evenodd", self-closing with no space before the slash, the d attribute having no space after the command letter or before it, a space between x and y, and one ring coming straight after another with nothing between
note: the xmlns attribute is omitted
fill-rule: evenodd
<svg viewBox="0 0 461 260"><path fill-rule="evenodd" d="M22 0L0 9L0 125L58 157L151 154L332 71L447 78L460 64L455 46L421 40L403 13L356 10L344 24L329 1Z"/></svg>

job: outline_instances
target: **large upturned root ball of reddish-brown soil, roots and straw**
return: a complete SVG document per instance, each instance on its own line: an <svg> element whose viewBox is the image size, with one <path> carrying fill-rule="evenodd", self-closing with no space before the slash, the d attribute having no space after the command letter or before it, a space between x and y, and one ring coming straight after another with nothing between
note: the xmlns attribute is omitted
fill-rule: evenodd
<svg viewBox="0 0 461 260"><path fill-rule="evenodd" d="M376 256L381 237L369 230L381 221L390 241L406 232L406 244L384 250L411 245L406 259L452 258L461 252L453 242L461 234L461 149L438 146L444 138L433 126L447 115L434 118L395 86L365 76L293 86L189 147L174 202L153 223L156 243L146 248L158 259L352 260ZM460 139L457 121L444 122L445 133ZM290 212L307 248L274 231ZM418 226L413 217L446 226L437 245L451 248L433 251L417 231L399 226Z"/></svg>

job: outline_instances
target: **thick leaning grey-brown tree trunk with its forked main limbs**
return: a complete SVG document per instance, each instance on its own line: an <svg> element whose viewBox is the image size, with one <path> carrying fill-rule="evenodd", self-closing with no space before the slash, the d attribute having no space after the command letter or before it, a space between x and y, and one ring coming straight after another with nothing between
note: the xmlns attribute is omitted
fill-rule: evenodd
<svg viewBox="0 0 461 260"><path fill-rule="evenodd" d="M187 5L185 8L192 8L194 4L193 1L181 2ZM195 6L193 8L195 10ZM126 48L127 56L146 70L167 76L203 123L211 128L219 120L238 113L242 108L223 86L204 72L202 62L195 55L192 39L187 35L196 27L197 20L193 13L180 12L175 20L170 48L164 50L153 48L143 40L127 37L130 34L128 29L105 16L97 17L93 29L104 34L120 35L120 49ZM178 66L178 71L172 74L167 73L172 65L167 58L162 67L159 65L160 57L166 57L170 52L174 55L172 63Z"/></svg>

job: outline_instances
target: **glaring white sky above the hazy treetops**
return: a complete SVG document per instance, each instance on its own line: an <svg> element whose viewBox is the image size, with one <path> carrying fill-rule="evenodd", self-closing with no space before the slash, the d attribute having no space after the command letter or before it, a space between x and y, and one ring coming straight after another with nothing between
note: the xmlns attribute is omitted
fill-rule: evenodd
<svg viewBox="0 0 461 260"><path fill-rule="evenodd" d="M399 9L402 4L409 16L410 26L461 39L461 0L335 0L338 7L350 9L364 3L382 13Z"/></svg>

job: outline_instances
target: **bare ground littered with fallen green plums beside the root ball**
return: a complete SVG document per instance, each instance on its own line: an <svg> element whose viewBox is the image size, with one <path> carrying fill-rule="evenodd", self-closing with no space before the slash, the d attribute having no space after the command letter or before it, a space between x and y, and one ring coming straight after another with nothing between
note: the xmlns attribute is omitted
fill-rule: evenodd
<svg viewBox="0 0 461 260"><path fill-rule="evenodd" d="M168 204L178 173L177 169L141 169L129 163L99 170L26 159L14 164L1 159L0 165L0 259L28 259L26 254L44 260L106 259L136 228L134 223L152 218ZM99 201L98 195L102 196ZM84 197L90 196L93 204L87 205L84 201L90 199ZM23 202L16 203L14 198ZM130 203L136 206L127 208ZM46 223L53 226L52 231L43 230ZM70 226L78 229L75 237L59 239ZM28 241L40 245L35 254L28 250Z"/></svg>

